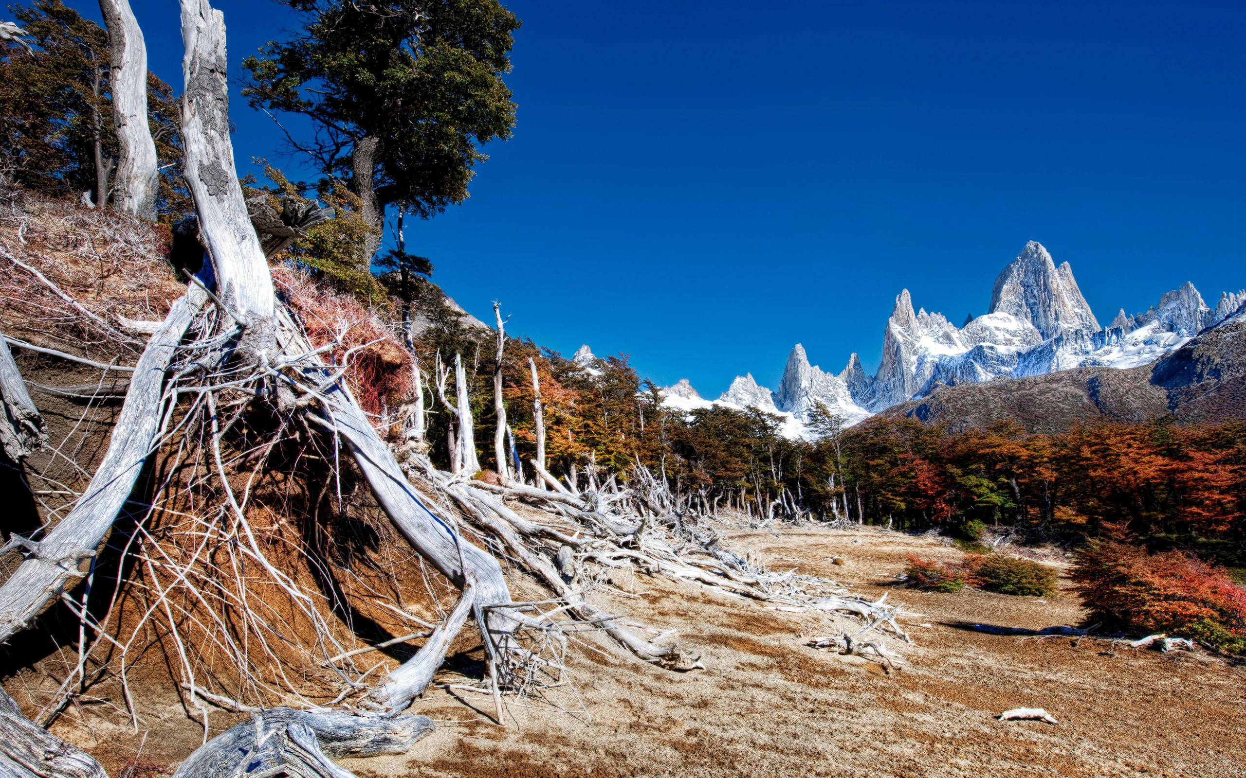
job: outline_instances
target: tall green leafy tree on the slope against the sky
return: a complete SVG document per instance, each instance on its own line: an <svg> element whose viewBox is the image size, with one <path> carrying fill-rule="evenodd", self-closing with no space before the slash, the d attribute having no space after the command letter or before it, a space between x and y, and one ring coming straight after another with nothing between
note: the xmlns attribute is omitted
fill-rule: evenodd
<svg viewBox="0 0 1246 778"><path fill-rule="evenodd" d="M481 146L508 138L515 103L502 81L520 21L497 0L282 0L302 16L285 41L243 62L250 105L310 120L287 132L324 176L349 182L380 246L385 208L429 218L467 197Z"/></svg>

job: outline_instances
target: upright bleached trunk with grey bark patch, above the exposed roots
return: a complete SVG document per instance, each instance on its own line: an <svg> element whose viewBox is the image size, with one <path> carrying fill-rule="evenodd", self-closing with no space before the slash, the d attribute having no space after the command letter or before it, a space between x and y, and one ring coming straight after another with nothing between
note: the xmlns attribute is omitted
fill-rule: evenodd
<svg viewBox="0 0 1246 778"><path fill-rule="evenodd" d="M277 306L264 250L250 225L229 142L226 24L208 0L181 0L182 142L186 183L199 215L199 235L212 256L219 298L240 315L252 337L272 332Z"/></svg>

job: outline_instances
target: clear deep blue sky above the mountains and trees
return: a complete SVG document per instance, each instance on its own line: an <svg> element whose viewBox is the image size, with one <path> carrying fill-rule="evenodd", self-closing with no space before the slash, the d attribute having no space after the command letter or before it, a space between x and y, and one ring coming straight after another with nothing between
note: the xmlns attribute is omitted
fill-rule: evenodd
<svg viewBox="0 0 1246 778"><path fill-rule="evenodd" d="M177 4L132 0L179 87ZM72 0L98 17L93 4ZM217 0L231 65L289 20ZM435 280L716 396L877 365L895 295L984 312L1027 240L1100 321L1246 286L1246 4L516 0L515 138L415 225ZM239 168L272 156L235 100Z"/></svg>

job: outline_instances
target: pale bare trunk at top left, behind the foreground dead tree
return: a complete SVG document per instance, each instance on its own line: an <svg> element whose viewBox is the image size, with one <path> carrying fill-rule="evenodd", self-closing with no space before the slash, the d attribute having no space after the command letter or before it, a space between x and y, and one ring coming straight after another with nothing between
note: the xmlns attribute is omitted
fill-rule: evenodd
<svg viewBox="0 0 1246 778"><path fill-rule="evenodd" d="M159 169L147 124L147 47L130 0L100 0L112 49L112 116L120 159L113 179L118 210L156 219Z"/></svg>

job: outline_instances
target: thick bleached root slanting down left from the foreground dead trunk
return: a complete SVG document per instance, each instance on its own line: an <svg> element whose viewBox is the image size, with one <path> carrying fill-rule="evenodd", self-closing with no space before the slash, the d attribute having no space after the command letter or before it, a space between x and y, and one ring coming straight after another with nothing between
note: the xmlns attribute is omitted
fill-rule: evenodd
<svg viewBox="0 0 1246 778"><path fill-rule="evenodd" d="M159 433L164 371L191 320L207 302L191 286L173 302L161 330L151 336L130 381L108 451L82 497L54 527L21 566L0 586L0 642L25 629L60 595L78 563L95 555L142 471Z"/></svg>

